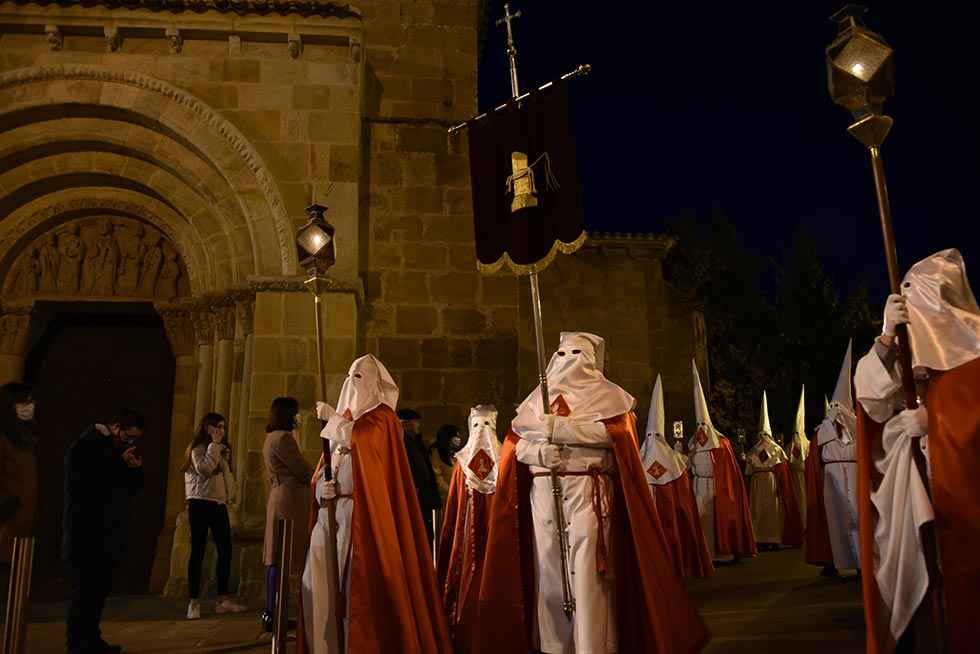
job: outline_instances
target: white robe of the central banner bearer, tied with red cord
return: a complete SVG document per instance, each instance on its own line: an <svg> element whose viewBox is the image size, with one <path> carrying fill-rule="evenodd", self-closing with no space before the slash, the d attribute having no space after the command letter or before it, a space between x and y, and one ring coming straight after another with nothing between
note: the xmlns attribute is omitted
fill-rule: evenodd
<svg viewBox="0 0 980 654"><path fill-rule="evenodd" d="M580 432L593 445L612 446L605 425L596 422ZM598 466L609 471L613 455L609 449L572 447L562 449L561 470L588 470ZM520 459L520 455L518 456ZM529 466L531 473L547 473L547 468ZM612 480L600 477L604 536L609 556ZM615 588L611 575L596 571L598 519L593 509L591 476L561 477L562 506L568 540L568 572L575 614L569 621L562 609L560 544L555 529L554 495L551 477L534 477L531 487L531 519L534 524L534 558L537 562L537 611L533 629L534 646L545 654L610 654L617 651ZM615 563L611 564L615 567Z"/></svg>

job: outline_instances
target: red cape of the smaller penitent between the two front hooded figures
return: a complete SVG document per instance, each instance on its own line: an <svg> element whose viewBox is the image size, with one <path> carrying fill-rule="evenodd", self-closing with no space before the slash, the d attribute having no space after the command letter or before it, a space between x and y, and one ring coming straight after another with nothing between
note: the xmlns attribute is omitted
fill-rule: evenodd
<svg viewBox="0 0 980 654"><path fill-rule="evenodd" d="M487 545L487 516L492 506L493 495L469 492L466 474L457 462L449 482L436 574L456 654L472 651L477 594ZM472 511L468 530L467 510Z"/></svg>

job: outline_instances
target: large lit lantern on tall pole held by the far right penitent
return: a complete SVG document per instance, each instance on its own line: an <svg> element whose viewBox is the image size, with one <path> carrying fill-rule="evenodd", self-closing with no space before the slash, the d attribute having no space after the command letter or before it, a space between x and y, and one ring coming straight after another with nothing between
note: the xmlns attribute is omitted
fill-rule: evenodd
<svg viewBox="0 0 980 654"><path fill-rule="evenodd" d="M868 149L871 158L888 281L891 292L897 294L901 293L901 271L898 267L891 205L885 183L885 165L881 155L881 148L894 123L891 117L884 114L884 104L895 93L895 52L880 34L863 24L861 16L866 12L867 7L863 5L848 4L831 16L831 20L836 21L839 28L837 36L826 49L827 82L830 97L837 105L847 109L854 119L847 131ZM919 403L912 374L912 344L908 337L908 326L897 325L895 332L905 406L907 409L915 409ZM870 444L859 443L859 448L860 464L869 466ZM912 450L923 484L929 488L925 457L919 447L913 447ZM862 498L862 501L865 499ZM923 603L928 602L930 605L928 613L924 614L929 622L928 625L924 624L924 631L931 633L926 637L921 633L916 634L914 639L920 646L929 642L924 646L928 651L941 652L945 642L945 619L939 582L941 572L938 548L932 526L927 525L923 532L921 542L930 579L929 591L923 600ZM869 570L865 574L871 579L874 577L873 571ZM865 601L873 601L867 599L867 589ZM869 624L868 629L870 633L877 630L878 626Z"/></svg>

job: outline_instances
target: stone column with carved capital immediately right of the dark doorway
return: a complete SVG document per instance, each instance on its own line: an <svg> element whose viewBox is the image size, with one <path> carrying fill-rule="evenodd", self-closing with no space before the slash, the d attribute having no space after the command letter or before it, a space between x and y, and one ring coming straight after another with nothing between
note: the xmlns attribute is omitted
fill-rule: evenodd
<svg viewBox="0 0 980 654"><path fill-rule="evenodd" d="M176 358L174 401L170 418L170 474L164 528L157 544L151 588L163 589L169 597L187 595L187 559L190 530L184 510L184 450L194 433L194 381L197 362L194 315L186 305L157 305Z"/></svg>

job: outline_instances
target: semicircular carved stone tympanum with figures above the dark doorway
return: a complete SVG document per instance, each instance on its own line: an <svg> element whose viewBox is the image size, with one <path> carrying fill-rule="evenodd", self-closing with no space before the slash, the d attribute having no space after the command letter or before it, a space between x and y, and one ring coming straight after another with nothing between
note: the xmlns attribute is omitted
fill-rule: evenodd
<svg viewBox="0 0 980 654"><path fill-rule="evenodd" d="M137 220L93 217L50 230L22 249L7 273L13 297L133 297L189 292L173 242Z"/></svg>

